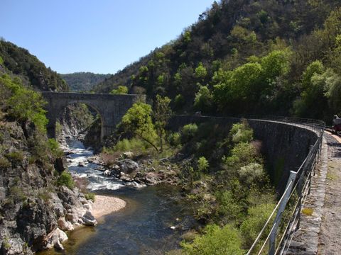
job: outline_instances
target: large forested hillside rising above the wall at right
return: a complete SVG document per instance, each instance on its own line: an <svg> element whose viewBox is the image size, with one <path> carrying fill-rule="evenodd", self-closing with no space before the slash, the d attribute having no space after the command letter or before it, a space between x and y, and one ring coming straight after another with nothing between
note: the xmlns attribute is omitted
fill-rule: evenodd
<svg viewBox="0 0 341 255"><path fill-rule="evenodd" d="M340 111L340 1L222 0L177 38L98 84L178 112L325 118Z"/></svg>

